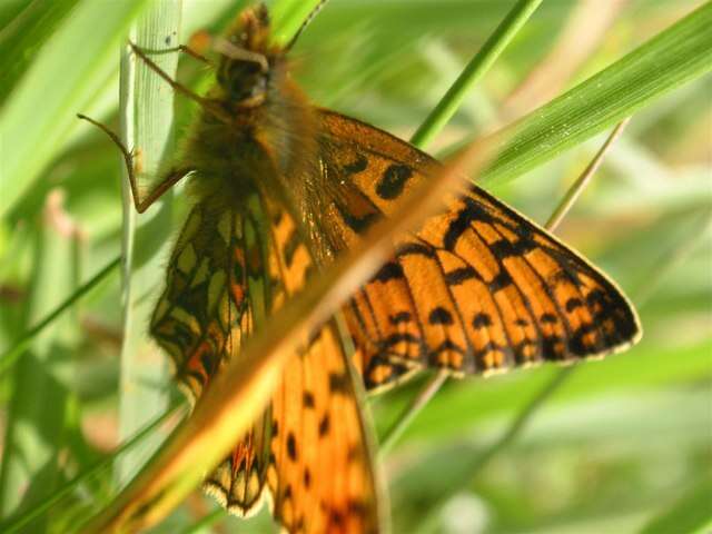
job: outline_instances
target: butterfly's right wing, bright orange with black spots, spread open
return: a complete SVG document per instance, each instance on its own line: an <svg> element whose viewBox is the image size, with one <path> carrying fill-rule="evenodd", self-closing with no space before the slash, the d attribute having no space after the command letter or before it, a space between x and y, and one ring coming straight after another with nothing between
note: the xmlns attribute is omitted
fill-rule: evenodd
<svg viewBox="0 0 712 534"><path fill-rule="evenodd" d="M322 110L330 190L328 240L348 247L442 169L372 126ZM640 335L635 313L601 271L476 186L395 244L395 254L345 307L368 387L384 365L487 373L601 356ZM393 369L392 369L393 370Z"/></svg>

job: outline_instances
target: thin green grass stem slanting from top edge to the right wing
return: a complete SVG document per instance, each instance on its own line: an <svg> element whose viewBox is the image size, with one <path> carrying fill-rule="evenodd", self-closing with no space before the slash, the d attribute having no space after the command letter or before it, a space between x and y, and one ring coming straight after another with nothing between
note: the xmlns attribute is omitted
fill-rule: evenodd
<svg viewBox="0 0 712 534"><path fill-rule="evenodd" d="M411 142L425 147L441 131L462 105L467 91L487 72L512 38L534 13L542 0L520 0L490 36L482 49L469 60L465 70L451 86L443 99L431 111L413 135Z"/></svg>

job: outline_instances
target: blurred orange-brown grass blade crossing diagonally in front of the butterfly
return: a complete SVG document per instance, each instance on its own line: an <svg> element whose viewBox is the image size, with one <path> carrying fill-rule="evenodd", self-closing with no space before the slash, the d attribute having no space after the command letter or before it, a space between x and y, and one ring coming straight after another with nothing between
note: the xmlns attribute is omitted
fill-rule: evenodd
<svg viewBox="0 0 712 534"><path fill-rule="evenodd" d="M397 236L442 209L439 199L461 189L466 170L476 171L492 159L491 149L492 145L478 144L463 152L437 179L413 191L392 219L376 224L363 243L280 308L248 340L243 357L214 378L194 415L86 532L146 528L177 506L261 412L285 359L308 339L308 333L376 273Z"/></svg>

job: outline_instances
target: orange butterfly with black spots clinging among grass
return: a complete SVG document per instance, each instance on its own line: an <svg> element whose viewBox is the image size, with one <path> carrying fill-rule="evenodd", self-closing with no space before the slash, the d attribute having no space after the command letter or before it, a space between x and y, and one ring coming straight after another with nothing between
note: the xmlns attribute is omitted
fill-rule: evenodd
<svg viewBox="0 0 712 534"><path fill-rule="evenodd" d="M174 167L141 202L132 180L142 211L189 175L195 202L150 333L194 402L310 277L442 170L313 106L289 77L288 48L270 41L264 7L243 12L215 42L216 83L192 97L200 111ZM364 386L426 367L487 374L601 356L640 334L611 280L474 185L394 243L342 312L290 357L269 406L207 477L229 511L248 515L269 495L288 532L379 532L387 504Z"/></svg>

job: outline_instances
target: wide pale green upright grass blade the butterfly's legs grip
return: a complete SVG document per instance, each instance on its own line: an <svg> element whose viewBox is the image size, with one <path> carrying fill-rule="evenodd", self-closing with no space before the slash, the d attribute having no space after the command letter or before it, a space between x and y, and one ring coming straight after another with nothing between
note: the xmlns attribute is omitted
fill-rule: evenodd
<svg viewBox="0 0 712 534"><path fill-rule="evenodd" d="M160 0L138 20L130 39L149 50L175 47L180 42L181 0ZM168 76L175 77L178 53L151 58ZM139 181L155 182L175 156L174 91L140 59L125 51L121 61L120 117L127 147L140 149L144 174ZM119 384L119 438L127 439L168 403L167 362L148 340L147 328L156 301L156 280L161 279L165 257L174 233L172 198L168 191L140 217L123 176L123 340ZM141 180L144 178L144 180ZM162 441L159 433L121 456L118 479L136 473Z"/></svg>

